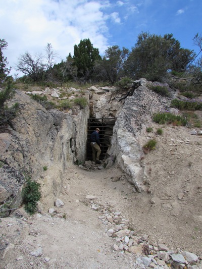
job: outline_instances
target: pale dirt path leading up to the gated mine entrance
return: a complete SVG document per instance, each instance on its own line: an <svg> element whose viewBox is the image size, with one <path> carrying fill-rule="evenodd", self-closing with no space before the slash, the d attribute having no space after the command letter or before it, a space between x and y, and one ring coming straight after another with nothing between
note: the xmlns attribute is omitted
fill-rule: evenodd
<svg viewBox="0 0 202 269"><path fill-rule="evenodd" d="M89 172L76 166L65 175L64 192L59 197L64 206L50 214L35 214L28 219L31 232L20 246L15 246L8 268L129 268L132 258L114 252L114 239L106 233L106 225L99 219L105 209L120 207L124 195L131 192L121 182L109 178L119 170ZM93 210L87 195L96 196L99 210ZM53 207L53 206L52 206ZM112 209L113 210L113 209ZM30 252L42 249L36 258ZM39 251L40 252L40 251ZM17 259L17 260L16 260Z"/></svg>

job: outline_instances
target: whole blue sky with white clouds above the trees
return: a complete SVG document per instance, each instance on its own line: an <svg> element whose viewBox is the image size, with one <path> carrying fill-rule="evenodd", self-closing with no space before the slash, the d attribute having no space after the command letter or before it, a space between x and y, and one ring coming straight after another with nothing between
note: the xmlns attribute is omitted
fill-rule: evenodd
<svg viewBox="0 0 202 269"><path fill-rule="evenodd" d="M108 46L131 49L141 32L172 33L184 48L201 34L202 0L0 0L0 38L12 66L25 52L43 53L51 43L65 60L74 45L89 38L104 54Z"/></svg>

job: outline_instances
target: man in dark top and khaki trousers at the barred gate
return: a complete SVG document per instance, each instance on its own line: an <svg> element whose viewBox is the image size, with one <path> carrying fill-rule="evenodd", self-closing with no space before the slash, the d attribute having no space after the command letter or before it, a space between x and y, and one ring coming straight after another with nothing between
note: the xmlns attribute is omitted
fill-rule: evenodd
<svg viewBox="0 0 202 269"><path fill-rule="evenodd" d="M92 160L96 164L101 164L99 160L99 155L101 153L100 146L102 145L100 144L100 141L99 141L99 132L100 132L99 128L96 128L95 131L93 131L90 135L90 145L92 148Z"/></svg>

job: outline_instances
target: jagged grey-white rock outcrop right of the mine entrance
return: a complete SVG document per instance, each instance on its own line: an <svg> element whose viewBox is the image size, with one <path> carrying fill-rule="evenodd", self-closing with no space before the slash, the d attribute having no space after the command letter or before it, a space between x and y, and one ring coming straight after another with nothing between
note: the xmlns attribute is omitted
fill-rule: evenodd
<svg viewBox="0 0 202 269"><path fill-rule="evenodd" d="M139 143L141 130L145 129L147 117L161 109L167 108L166 98L148 90L145 79L140 79L141 86L132 96L128 96L123 107L117 113L117 121L113 130L112 146L108 166L115 160L125 172L128 181L136 187L138 192L144 190L144 168L140 165L143 155L142 145Z"/></svg>

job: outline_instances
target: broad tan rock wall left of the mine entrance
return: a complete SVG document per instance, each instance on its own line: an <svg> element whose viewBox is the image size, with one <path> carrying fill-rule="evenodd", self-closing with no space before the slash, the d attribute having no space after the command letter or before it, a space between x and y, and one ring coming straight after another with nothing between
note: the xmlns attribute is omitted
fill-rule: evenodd
<svg viewBox="0 0 202 269"><path fill-rule="evenodd" d="M68 164L77 157L85 160L88 107L76 115L47 111L18 90L12 102L20 103L20 112L10 133L0 134L0 202L14 196L19 206L27 174L41 183L44 198L53 199L61 191Z"/></svg>

